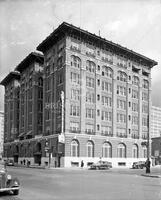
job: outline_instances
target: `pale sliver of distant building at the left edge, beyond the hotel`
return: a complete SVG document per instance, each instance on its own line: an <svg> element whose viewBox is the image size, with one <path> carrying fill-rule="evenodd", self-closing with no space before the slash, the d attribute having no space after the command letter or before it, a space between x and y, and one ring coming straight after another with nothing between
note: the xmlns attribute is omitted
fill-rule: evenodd
<svg viewBox="0 0 161 200"><path fill-rule="evenodd" d="M3 155L3 142L4 142L4 112L0 111L0 158Z"/></svg>

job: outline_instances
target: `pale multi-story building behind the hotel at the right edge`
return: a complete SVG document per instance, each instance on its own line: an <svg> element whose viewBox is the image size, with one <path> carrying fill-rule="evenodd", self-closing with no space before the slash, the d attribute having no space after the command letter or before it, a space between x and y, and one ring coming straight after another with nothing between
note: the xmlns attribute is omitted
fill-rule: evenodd
<svg viewBox="0 0 161 200"><path fill-rule="evenodd" d="M161 108L152 106L151 110L151 138L161 136Z"/></svg>

